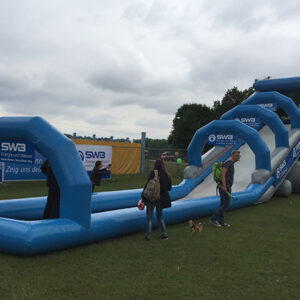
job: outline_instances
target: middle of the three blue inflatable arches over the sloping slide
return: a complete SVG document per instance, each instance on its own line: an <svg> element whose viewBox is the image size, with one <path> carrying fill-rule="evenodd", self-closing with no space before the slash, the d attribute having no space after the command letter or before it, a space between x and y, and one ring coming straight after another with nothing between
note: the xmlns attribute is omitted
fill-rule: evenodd
<svg viewBox="0 0 300 300"><path fill-rule="evenodd" d="M239 117L259 117L266 123L275 135L276 147L289 148L288 130L274 112L259 105L239 105L223 114L221 120L230 120Z"/></svg>

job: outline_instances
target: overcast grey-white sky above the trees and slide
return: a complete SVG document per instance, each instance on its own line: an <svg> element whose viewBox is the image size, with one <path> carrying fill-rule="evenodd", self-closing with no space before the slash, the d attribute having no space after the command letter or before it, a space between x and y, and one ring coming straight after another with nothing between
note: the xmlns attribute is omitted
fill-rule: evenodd
<svg viewBox="0 0 300 300"><path fill-rule="evenodd" d="M184 103L300 76L299 1L0 0L0 114L167 138Z"/></svg>

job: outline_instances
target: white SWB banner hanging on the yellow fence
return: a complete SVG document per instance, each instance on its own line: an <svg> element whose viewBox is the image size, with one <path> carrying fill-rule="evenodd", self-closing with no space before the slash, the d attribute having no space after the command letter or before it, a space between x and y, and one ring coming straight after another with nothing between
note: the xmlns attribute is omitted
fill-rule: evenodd
<svg viewBox="0 0 300 300"><path fill-rule="evenodd" d="M112 147L99 145L80 145L76 144L76 148L82 162L87 171L92 171L97 160L102 161L103 167L111 164Z"/></svg>

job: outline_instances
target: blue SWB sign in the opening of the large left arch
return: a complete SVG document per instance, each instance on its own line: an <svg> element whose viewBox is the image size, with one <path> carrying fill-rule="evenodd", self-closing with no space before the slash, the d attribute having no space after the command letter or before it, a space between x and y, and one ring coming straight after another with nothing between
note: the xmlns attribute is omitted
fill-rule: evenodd
<svg viewBox="0 0 300 300"><path fill-rule="evenodd" d="M23 141L1 141L1 162L34 164L35 146L30 142Z"/></svg>

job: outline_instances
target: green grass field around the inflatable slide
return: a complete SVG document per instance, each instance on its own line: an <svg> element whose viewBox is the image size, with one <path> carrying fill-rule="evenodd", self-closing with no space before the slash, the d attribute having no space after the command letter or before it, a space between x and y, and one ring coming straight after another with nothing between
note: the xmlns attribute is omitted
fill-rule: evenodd
<svg viewBox="0 0 300 300"><path fill-rule="evenodd" d="M179 182L174 178L174 184ZM99 190L143 186L145 176L113 176ZM44 195L44 182L5 183L1 199ZM9 195L9 196L8 196ZM0 299L299 299L300 196L274 198L187 223L35 257L0 254Z"/></svg>

